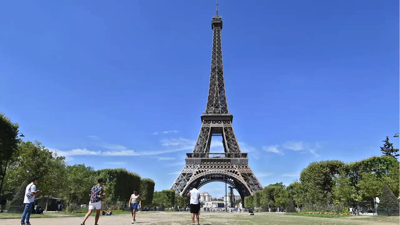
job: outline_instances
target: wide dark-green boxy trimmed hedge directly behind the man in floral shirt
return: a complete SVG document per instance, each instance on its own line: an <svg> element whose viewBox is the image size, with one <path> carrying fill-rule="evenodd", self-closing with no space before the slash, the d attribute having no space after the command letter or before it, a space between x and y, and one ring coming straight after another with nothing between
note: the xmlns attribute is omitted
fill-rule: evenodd
<svg viewBox="0 0 400 225"><path fill-rule="evenodd" d="M106 203L121 201L126 203L134 189L140 189L140 176L126 169L101 169L96 171L98 178L103 179L104 198Z"/></svg>

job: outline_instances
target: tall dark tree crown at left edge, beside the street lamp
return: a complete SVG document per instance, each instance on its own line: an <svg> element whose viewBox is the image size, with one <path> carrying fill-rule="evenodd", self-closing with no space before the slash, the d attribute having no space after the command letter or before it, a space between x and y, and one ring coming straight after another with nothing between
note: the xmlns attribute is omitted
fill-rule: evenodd
<svg viewBox="0 0 400 225"><path fill-rule="evenodd" d="M12 123L11 119L0 112L0 174L4 171L6 161L17 149L20 139L18 139L18 124Z"/></svg>

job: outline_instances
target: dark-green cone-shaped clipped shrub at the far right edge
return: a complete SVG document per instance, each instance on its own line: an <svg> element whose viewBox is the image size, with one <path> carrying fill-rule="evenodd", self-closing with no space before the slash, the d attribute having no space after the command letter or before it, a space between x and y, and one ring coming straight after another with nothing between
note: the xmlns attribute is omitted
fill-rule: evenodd
<svg viewBox="0 0 400 225"><path fill-rule="evenodd" d="M382 195L378 208L384 209L378 210L378 214L381 215L386 215L386 213L389 215L400 215L400 211L398 210L400 209L400 203L387 184L384 184L382 187Z"/></svg>

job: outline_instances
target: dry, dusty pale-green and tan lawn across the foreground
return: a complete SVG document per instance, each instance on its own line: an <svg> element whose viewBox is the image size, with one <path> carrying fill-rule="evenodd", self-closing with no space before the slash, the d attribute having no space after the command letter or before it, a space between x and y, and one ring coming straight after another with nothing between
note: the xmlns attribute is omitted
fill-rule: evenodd
<svg viewBox="0 0 400 225"><path fill-rule="evenodd" d="M130 212L121 212L114 216L100 216L99 224L123 225L130 224ZM0 213L2 218L8 213ZM50 214L50 215L49 215ZM19 222L20 214L11 214L18 219L0 219L2 225L14 225ZM84 213L47 213L34 215L39 217L51 216L53 218L35 218L32 223L40 225L71 225L79 224ZM94 215L94 214L92 214ZM58 218L54 218L58 217ZM88 224L92 224L93 217ZM192 224L190 213L186 212L141 212L136 216L136 222L146 225L188 225ZM244 213L200 213L201 225L400 225L400 217L380 216L342 216L335 218L311 217L290 215L284 213L256 213L249 216Z"/></svg>

